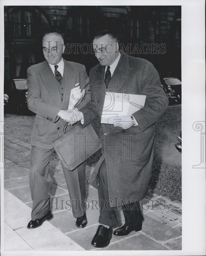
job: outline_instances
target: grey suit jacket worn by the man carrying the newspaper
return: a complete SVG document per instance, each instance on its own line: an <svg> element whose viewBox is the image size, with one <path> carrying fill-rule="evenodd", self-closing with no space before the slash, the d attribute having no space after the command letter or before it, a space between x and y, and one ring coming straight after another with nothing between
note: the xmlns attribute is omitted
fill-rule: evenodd
<svg viewBox="0 0 206 256"><path fill-rule="evenodd" d="M47 61L33 65L28 68L28 107L36 113L31 145L40 148L53 148L52 142L62 134L65 122L57 114L63 109L68 109L70 91L75 85L83 90L88 76L84 65L64 61L64 72L62 78L63 92L56 80ZM63 100L61 100L61 95ZM78 106L81 108L81 104Z"/></svg>

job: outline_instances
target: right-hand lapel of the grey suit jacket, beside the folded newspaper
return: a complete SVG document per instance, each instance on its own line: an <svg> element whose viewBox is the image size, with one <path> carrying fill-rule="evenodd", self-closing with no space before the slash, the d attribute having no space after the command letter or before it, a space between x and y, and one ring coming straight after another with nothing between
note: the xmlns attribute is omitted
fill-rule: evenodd
<svg viewBox="0 0 206 256"><path fill-rule="evenodd" d="M69 101L71 89L75 87L76 74L74 73L74 67L64 60L64 82L65 90L64 97L62 101L62 109L65 108L67 102Z"/></svg>

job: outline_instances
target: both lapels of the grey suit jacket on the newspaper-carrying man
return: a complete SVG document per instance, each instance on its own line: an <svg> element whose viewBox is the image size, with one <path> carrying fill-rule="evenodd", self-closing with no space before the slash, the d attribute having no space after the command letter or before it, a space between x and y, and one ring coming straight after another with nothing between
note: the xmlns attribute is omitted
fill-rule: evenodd
<svg viewBox="0 0 206 256"><path fill-rule="evenodd" d="M57 102L60 108L64 109L67 101L69 100L70 91L75 86L75 74L74 74L74 67L68 62L64 61L64 80L65 80L65 91L64 91L64 98L63 102L61 101L61 96L59 94L59 90L55 79L55 75L52 72L49 64L47 61L44 62L42 70L40 71L42 80L46 84L48 90L50 91L51 95Z"/></svg>

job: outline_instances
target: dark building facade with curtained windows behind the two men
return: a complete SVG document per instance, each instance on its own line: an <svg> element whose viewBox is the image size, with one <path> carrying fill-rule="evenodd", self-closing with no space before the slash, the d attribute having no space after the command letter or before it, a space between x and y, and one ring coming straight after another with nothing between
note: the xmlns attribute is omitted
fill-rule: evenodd
<svg viewBox="0 0 206 256"><path fill-rule="evenodd" d="M63 57L89 73L97 64L94 34L108 28L129 55L151 61L162 77L181 79L181 6L5 6L4 15L5 84L44 61L42 36L49 32L65 39Z"/></svg>

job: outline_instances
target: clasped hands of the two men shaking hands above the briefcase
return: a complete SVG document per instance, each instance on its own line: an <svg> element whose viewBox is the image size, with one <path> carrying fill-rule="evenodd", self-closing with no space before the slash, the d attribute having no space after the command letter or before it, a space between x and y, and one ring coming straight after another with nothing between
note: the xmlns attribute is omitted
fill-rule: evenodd
<svg viewBox="0 0 206 256"><path fill-rule="evenodd" d="M84 119L82 112L78 111L77 109L71 109L71 110L61 109L58 113L58 116L61 119L63 119L65 122L68 122L69 124L74 124Z"/></svg>

